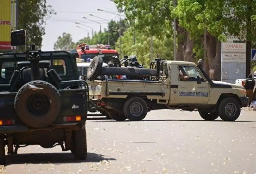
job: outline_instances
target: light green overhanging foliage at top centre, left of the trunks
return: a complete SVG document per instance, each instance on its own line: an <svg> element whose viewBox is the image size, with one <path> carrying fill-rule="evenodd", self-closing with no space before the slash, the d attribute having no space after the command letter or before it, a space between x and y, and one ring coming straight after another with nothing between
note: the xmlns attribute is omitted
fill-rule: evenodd
<svg viewBox="0 0 256 174"><path fill-rule="evenodd" d="M161 32L170 20L170 0L114 0L119 12L124 12L127 19L134 23L136 30L150 32L153 36L162 35ZM167 36L168 37L168 36Z"/></svg>

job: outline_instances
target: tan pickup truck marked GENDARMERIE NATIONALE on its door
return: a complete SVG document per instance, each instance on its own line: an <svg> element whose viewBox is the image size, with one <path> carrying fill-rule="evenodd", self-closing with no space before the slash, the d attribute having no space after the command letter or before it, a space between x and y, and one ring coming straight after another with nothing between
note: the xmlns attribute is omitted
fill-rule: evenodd
<svg viewBox="0 0 256 174"><path fill-rule="evenodd" d="M94 59L87 76L95 91L89 95L98 96L98 106L117 121L140 121L156 109L198 111L204 120L235 121L249 104L242 86L211 80L202 59L198 65L155 59L149 69L102 67L101 58ZM126 75L130 80L93 81L97 75Z"/></svg>

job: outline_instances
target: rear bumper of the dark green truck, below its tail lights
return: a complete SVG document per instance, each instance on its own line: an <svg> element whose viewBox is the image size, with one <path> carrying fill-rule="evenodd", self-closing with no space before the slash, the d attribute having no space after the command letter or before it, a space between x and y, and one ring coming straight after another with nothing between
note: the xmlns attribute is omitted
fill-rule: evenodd
<svg viewBox="0 0 256 174"><path fill-rule="evenodd" d="M40 130L54 130L54 129L69 129L69 130L80 130L85 128L85 121L79 123L64 123L64 124L52 124L46 128L31 128L25 125L17 126L0 126L0 134L6 133L18 133L18 132L29 132L29 131L40 131Z"/></svg>

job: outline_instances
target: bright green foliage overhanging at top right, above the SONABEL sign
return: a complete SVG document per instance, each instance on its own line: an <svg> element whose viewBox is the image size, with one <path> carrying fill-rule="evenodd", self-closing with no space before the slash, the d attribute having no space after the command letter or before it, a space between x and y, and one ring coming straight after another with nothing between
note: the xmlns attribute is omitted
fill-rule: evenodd
<svg viewBox="0 0 256 174"><path fill-rule="evenodd" d="M255 0L251 2L255 4ZM186 28L191 37L198 38L203 35L204 28L221 41L225 41L227 33L245 36L248 15L255 14L255 8L250 9L250 1L240 0L179 0L177 7L172 11L173 17L179 19L181 27ZM254 19L254 18L253 18ZM254 30L249 29L247 35L253 40Z"/></svg>

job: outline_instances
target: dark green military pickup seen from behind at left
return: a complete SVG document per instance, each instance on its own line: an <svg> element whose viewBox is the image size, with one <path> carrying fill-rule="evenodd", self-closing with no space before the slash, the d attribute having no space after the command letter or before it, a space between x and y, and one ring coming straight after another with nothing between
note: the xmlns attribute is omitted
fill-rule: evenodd
<svg viewBox="0 0 256 174"><path fill-rule="evenodd" d="M12 45L25 43L24 30L11 34ZM71 54L32 45L30 51L0 54L0 66L0 164L6 145L8 154L28 145L60 145L85 160L88 85L78 80Z"/></svg>

